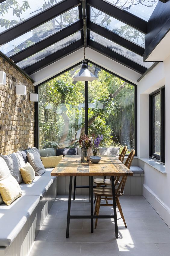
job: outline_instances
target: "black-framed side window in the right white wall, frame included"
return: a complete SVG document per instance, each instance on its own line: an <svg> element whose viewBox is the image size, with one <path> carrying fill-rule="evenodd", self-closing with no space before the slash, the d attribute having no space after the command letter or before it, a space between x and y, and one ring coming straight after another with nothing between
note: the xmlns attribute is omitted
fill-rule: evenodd
<svg viewBox="0 0 170 256"><path fill-rule="evenodd" d="M165 88L150 96L150 156L165 162Z"/></svg>

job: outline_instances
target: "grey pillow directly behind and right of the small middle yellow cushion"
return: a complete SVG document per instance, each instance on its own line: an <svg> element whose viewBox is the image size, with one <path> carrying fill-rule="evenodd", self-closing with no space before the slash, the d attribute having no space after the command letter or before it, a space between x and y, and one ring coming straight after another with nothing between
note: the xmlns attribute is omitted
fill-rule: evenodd
<svg viewBox="0 0 170 256"><path fill-rule="evenodd" d="M43 166L40 156L37 154L37 152L28 152L27 157L28 162L33 167L36 176L41 176L46 170Z"/></svg>

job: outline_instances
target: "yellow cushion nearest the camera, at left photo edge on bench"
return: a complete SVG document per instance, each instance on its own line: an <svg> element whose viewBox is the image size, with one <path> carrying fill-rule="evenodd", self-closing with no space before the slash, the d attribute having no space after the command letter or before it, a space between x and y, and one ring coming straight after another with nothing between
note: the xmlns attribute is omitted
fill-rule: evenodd
<svg viewBox="0 0 170 256"><path fill-rule="evenodd" d="M6 205L10 205L15 199L22 195L22 190L16 179L10 175L0 180L0 194Z"/></svg>

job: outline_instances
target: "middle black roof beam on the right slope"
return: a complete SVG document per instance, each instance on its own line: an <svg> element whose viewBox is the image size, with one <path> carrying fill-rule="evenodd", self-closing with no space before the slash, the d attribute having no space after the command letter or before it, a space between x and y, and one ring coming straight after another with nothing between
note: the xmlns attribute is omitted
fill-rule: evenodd
<svg viewBox="0 0 170 256"><path fill-rule="evenodd" d="M131 42L130 40L127 40L127 39L119 36L118 34L111 32L108 29L103 28L102 26L97 25L91 21L87 22L87 28L90 29L91 31L117 43L117 44L120 44L121 46L123 46L123 47L129 49L130 51L133 51L143 57L145 49L143 47L139 46L138 44L135 44L135 43Z"/></svg>

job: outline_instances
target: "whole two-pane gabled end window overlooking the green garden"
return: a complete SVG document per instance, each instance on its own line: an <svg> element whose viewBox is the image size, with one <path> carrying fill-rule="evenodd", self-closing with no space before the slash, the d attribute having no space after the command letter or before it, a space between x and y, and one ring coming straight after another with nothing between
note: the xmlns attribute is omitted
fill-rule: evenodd
<svg viewBox="0 0 170 256"><path fill-rule="evenodd" d="M135 148L135 87L88 63L98 80L72 84L80 66L39 86L39 148L75 147L85 131L88 100L88 134L103 135L100 146Z"/></svg>

